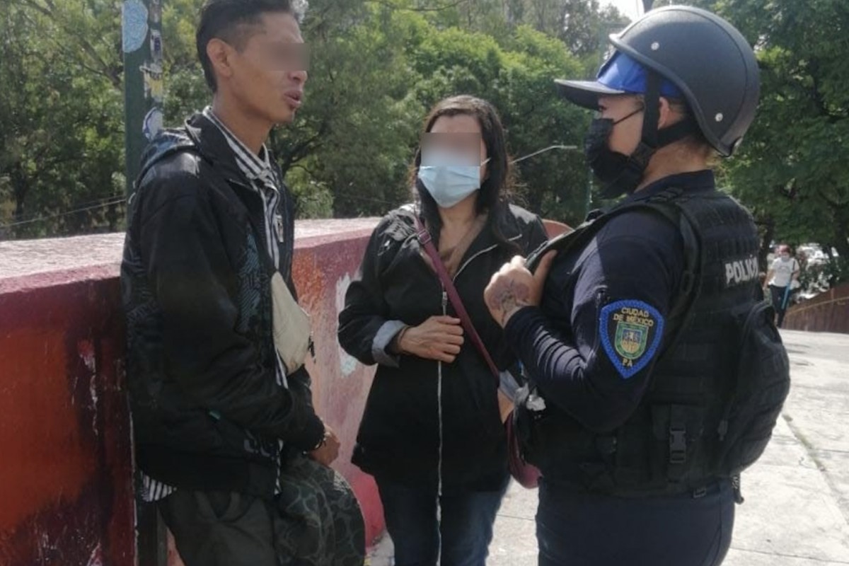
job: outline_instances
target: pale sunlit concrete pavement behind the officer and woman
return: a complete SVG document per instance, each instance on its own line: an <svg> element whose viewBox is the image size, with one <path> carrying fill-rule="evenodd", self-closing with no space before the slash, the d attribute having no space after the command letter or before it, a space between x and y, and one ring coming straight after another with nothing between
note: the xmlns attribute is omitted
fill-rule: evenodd
<svg viewBox="0 0 849 566"><path fill-rule="evenodd" d="M849 564L849 335L783 331L792 387L773 441L742 479L723 566ZM534 566L537 492L511 485L490 566ZM371 566L391 566L388 537Z"/></svg>

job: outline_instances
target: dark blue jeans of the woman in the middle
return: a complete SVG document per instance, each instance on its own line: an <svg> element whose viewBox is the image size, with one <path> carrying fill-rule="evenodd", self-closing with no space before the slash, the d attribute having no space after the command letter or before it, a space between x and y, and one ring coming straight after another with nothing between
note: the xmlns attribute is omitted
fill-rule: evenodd
<svg viewBox="0 0 849 566"><path fill-rule="evenodd" d="M508 481L500 491L465 491L441 497L436 520L436 489L413 488L378 479L386 530L395 544L396 566L434 566L441 543L441 566L484 566L492 524Z"/></svg>

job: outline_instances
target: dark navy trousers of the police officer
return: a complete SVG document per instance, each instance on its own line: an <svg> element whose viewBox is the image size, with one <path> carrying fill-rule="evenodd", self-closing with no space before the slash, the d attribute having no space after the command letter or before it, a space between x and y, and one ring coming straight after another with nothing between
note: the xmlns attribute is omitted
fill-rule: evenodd
<svg viewBox="0 0 849 566"><path fill-rule="evenodd" d="M623 499L541 482L539 566L718 566L731 546L730 481L700 497Z"/></svg>

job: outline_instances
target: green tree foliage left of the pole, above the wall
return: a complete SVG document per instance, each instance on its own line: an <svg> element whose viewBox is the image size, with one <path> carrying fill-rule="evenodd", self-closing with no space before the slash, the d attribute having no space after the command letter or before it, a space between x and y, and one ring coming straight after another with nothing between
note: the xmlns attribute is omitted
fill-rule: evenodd
<svg viewBox="0 0 849 566"><path fill-rule="evenodd" d="M0 6L0 200L14 204L0 237L120 226L116 14L96 1Z"/></svg>

